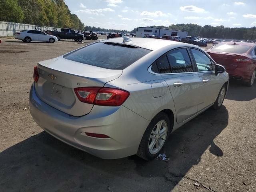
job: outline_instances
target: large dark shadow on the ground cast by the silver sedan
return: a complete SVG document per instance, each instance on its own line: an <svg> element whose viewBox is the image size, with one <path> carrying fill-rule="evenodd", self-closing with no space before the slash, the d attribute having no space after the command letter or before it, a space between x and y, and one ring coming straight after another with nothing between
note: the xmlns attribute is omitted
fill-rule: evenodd
<svg viewBox="0 0 256 192"><path fill-rule="evenodd" d="M170 191L208 146L223 155L213 140L227 124L224 106L206 110L171 134L163 149L168 162L102 160L41 132L0 153L0 191Z"/></svg>

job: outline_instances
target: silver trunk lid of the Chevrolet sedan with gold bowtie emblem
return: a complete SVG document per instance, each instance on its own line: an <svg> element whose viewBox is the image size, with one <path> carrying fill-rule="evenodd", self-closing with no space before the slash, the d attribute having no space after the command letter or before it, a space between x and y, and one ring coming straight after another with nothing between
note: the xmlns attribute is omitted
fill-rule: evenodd
<svg viewBox="0 0 256 192"><path fill-rule="evenodd" d="M50 106L70 114L90 113L93 104L80 102L74 88L103 87L106 82L121 76L122 70L100 68L58 57L38 63L36 94Z"/></svg>

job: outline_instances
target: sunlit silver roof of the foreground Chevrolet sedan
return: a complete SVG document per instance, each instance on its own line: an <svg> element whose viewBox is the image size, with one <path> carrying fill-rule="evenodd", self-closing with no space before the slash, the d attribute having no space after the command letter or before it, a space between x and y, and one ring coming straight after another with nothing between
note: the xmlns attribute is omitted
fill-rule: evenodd
<svg viewBox="0 0 256 192"><path fill-rule="evenodd" d="M160 48L166 47L171 44L184 44L177 41L168 41L164 39L154 39L154 38L130 38L131 41L125 42L124 44L130 44L139 46L141 48L149 49L149 50L158 50ZM111 38L107 40L102 40L100 42L114 42L114 43L123 43L123 38ZM190 45L190 44L189 44ZM184 44L184 46L188 46L188 44Z"/></svg>

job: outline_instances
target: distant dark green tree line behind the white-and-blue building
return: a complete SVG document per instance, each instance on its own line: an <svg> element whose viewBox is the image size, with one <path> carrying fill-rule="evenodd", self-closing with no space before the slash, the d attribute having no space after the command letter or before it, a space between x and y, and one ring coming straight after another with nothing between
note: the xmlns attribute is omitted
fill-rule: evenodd
<svg viewBox="0 0 256 192"><path fill-rule="evenodd" d="M204 37L204 38L217 38L217 39L239 39L239 40L256 40L256 27L246 28L229 28L220 26L205 25L200 26L197 24L172 24L166 26L152 26L166 29L174 29L187 31L188 36ZM132 32L136 32L137 28L134 28Z"/></svg>

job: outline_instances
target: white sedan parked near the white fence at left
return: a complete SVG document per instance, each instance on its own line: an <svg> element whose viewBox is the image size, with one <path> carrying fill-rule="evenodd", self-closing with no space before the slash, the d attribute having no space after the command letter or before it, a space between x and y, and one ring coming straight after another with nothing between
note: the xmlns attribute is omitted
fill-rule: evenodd
<svg viewBox="0 0 256 192"><path fill-rule="evenodd" d="M45 41L49 43L54 43L58 41L56 36L48 35L45 32L40 30L22 30L20 32L16 32L14 35L15 39L22 40L23 42L31 42L31 41Z"/></svg>

